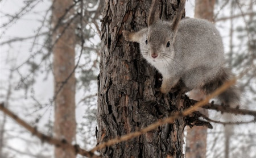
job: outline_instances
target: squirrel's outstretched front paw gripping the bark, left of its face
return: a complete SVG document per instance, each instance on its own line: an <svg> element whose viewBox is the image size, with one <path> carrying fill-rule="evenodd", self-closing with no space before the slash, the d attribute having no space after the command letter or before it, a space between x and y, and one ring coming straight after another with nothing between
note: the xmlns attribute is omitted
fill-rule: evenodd
<svg viewBox="0 0 256 158"><path fill-rule="evenodd" d="M143 28L141 31L138 32L130 32L123 30L123 37L125 37L126 41L136 41L139 43L141 39L143 38L144 34L147 34L147 28Z"/></svg>

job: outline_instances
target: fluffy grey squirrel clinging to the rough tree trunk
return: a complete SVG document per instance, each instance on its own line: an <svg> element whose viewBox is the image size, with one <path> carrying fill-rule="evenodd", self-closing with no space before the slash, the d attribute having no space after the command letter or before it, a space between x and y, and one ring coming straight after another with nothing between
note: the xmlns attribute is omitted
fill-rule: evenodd
<svg viewBox="0 0 256 158"><path fill-rule="evenodd" d="M186 18L181 20L185 0L172 22L160 20L155 12L158 0L152 2L148 27L138 32L123 31L126 41L140 45L144 59L163 76L160 92L189 92L194 88L212 93L232 77L225 66L222 38L207 20ZM232 86L217 97L221 103L236 107L240 93Z"/></svg>

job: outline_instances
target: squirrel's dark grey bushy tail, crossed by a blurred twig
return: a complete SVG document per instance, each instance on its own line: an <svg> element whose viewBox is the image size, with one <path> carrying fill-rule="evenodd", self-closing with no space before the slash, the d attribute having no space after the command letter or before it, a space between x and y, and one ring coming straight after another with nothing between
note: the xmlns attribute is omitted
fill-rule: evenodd
<svg viewBox="0 0 256 158"><path fill-rule="evenodd" d="M221 68L217 76L217 78L214 78L211 82L203 86L203 90L207 94L212 93L214 90L223 85L224 82L232 79L233 74L231 73L230 69ZM240 90L237 88L237 86L233 85L226 89L225 92L218 95L216 98L222 105L235 108L240 105L240 94Z"/></svg>

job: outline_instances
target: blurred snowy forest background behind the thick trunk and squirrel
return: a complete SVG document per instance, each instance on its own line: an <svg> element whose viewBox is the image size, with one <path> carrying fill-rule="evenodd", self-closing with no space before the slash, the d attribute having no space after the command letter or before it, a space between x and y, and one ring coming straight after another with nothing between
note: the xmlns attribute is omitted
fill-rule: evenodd
<svg viewBox="0 0 256 158"><path fill-rule="evenodd" d="M195 1L187 1L186 16L193 17ZM255 0L214 1L212 22L236 76L256 64L255 7ZM0 102L38 131L87 150L96 145L103 9L101 0L0 1ZM242 108L256 110L256 70L238 82ZM209 111L209 118L216 115ZM203 157L256 157L250 120L241 117L228 142L223 123L212 123ZM0 112L0 157L62 157L60 152Z"/></svg>

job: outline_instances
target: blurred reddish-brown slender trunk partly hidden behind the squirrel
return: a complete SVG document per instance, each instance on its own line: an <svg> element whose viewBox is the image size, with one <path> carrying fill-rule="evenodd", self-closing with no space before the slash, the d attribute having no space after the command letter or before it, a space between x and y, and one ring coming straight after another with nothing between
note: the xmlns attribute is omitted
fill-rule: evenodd
<svg viewBox="0 0 256 158"><path fill-rule="evenodd" d="M213 22L215 0L196 0L195 18L207 19ZM205 94L200 89L192 90L189 93L189 98L200 101L204 99ZM200 112L208 115L208 111L200 109ZM206 157L207 153L207 127L194 126L187 128L187 147L185 157Z"/></svg>

